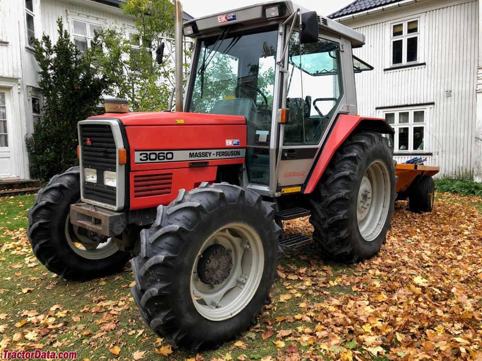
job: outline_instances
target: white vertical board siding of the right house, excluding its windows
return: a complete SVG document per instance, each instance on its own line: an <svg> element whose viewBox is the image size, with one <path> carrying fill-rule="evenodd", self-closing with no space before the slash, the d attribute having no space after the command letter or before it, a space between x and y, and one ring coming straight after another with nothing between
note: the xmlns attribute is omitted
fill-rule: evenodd
<svg viewBox="0 0 482 361"><path fill-rule="evenodd" d="M427 6L425 4L430 4ZM365 34L366 45L353 53L375 67L355 75L358 113L382 116L377 107L434 103L427 116L427 165L440 165L440 174L473 170L476 120L475 87L478 56L478 1L434 5L421 2L387 12L379 22L368 17L343 24ZM405 9L405 11L403 10ZM419 61L426 65L390 67L390 24L398 19L420 19ZM451 97L445 92L451 91ZM396 157L398 161L407 157Z"/></svg>

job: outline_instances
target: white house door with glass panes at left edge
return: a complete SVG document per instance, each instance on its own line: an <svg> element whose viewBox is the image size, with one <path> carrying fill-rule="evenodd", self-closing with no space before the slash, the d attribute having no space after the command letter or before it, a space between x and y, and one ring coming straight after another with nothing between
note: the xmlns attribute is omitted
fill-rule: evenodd
<svg viewBox="0 0 482 361"><path fill-rule="evenodd" d="M18 178L17 147L13 142L14 112L11 89L0 88L0 178ZM17 150L17 151L16 151Z"/></svg>

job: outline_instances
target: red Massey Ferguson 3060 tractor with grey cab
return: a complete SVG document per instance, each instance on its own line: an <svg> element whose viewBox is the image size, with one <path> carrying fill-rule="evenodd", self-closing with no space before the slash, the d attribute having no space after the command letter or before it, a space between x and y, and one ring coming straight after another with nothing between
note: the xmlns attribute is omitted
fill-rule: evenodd
<svg viewBox="0 0 482 361"><path fill-rule="evenodd" d="M282 250L312 241L285 238L283 220L311 214L324 257L376 254L395 171L392 128L356 114L354 72L370 69L352 57L362 34L289 1L182 29L194 39L184 102L177 61L176 112L127 113L114 100L79 122L80 167L39 192L28 236L66 279L135 256L142 318L195 351L255 323Z"/></svg>

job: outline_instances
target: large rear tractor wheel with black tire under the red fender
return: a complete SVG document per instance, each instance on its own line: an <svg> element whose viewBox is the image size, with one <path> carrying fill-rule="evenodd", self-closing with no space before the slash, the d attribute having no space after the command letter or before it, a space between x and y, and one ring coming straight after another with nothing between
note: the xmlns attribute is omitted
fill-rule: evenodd
<svg viewBox="0 0 482 361"><path fill-rule="evenodd" d="M379 133L350 135L336 150L310 199L322 257L366 260L386 241L395 201L395 161Z"/></svg>

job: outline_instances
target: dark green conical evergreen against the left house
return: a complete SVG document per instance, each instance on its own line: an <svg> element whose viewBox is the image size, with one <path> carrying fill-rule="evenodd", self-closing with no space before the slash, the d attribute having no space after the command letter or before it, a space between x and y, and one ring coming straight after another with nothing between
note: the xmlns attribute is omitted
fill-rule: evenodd
<svg viewBox="0 0 482 361"><path fill-rule="evenodd" d="M27 136L26 144L30 174L44 181L78 164L77 122L97 112L108 84L70 41L61 18L57 25L55 45L46 35L34 41L45 103L43 117L35 124L34 133Z"/></svg>

